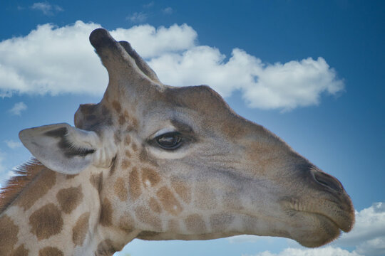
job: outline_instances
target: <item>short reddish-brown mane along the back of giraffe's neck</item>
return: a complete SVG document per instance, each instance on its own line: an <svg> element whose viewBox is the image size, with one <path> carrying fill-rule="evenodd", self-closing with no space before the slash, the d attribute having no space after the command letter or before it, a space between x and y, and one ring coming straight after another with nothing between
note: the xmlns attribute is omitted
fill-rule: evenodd
<svg viewBox="0 0 385 256"><path fill-rule="evenodd" d="M0 187L0 213L2 213L19 196L26 186L39 176L44 166L37 159L30 159L14 170L15 176Z"/></svg>

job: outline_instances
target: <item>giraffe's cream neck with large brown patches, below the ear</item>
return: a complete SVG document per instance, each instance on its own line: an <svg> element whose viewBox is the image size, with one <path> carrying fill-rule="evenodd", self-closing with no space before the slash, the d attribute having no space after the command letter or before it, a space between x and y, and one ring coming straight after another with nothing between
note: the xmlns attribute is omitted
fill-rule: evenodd
<svg viewBox="0 0 385 256"><path fill-rule="evenodd" d="M0 213L0 255L112 255L138 234L103 226L101 171L39 168Z"/></svg>

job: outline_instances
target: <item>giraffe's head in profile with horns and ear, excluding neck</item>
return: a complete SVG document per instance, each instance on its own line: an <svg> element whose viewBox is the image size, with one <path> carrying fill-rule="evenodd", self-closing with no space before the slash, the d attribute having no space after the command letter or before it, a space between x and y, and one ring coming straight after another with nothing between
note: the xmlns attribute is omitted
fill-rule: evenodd
<svg viewBox="0 0 385 256"><path fill-rule="evenodd" d="M100 170L104 230L148 240L270 235L307 247L351 230L354 208L337 178L210 87L163 85L106 30L90 41L109 75L101 102L81 105L76 127L51 124L20 138L53 171Z"/></svg>

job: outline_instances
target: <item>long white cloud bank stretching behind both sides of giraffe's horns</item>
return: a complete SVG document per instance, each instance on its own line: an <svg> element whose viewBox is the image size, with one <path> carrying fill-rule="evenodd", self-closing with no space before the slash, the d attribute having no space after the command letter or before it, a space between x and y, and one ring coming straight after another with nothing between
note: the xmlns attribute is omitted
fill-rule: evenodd
<svg viewBox="0 0 385 256"><path fill-rule="evenodd" d="M82 21L63 27L45 24L27 36L0 42L0 97L15 92L101 95L108 77L88 43L89 33L100 26ZM219 49L199 46L197 32L185 24L117 28L111 34L129 41L165 84L206 84L224 97L240 90L250 107L317 105L323 94L344 88L323 58L268 64L235 48L227 60Z"/></svg>

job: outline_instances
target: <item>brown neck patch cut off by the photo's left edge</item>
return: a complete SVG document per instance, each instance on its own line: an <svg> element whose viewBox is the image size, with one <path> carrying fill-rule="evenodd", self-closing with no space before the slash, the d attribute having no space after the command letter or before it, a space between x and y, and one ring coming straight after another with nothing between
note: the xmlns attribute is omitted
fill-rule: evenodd
<svg viewBox="0 0 385 256"><path fill-rule="evenodd" d="M18 233L19 227L9 216L0 218L0 255L6 255L14 249Z"/></svg>

